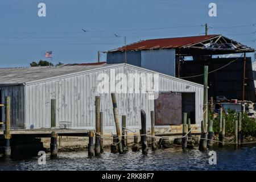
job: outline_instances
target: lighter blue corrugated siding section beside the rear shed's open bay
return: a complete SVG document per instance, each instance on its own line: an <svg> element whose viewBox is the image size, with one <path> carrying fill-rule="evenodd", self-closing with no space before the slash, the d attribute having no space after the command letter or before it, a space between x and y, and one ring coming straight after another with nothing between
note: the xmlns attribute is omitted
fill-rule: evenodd
<svg viewBox="0 0 256 182"><path fill-rule="evenodd" d="M141 67L175 76L175 49L141 51Z"/></svg>

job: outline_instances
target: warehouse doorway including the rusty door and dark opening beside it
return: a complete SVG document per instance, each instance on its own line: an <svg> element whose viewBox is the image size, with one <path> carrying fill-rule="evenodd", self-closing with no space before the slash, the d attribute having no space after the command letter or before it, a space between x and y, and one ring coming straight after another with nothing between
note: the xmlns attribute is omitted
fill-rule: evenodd
<svg viewBox="0 0 256 182"><path fill-rule="evenodd" d="M155 100L155 125L181 125L182 113L195 123L195 93L159 93Z"/></svg>

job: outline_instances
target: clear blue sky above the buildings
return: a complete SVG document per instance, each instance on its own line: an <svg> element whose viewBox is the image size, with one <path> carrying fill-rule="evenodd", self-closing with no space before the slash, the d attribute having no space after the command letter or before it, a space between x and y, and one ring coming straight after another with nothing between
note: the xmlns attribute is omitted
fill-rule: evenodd
<svg viewBox="0 0 256 182"><path fill-rule="evenodd" d="M41 2L46 3L46 17L38 16ZM210 2L217 4L217 17L208 15ZM255 0L0 0L0 67L28 66L44 59L46 51L53 52L52 60L47 60L55 64L94 62L97 51L123 46L123 36L129 44L199 35L205 23L212 27L209 34L256 48L255 7ZM195 27L166 28L178 26ZM147 28L156 29L141 30ZM101 60L105 59L102 53Z"/></svg>

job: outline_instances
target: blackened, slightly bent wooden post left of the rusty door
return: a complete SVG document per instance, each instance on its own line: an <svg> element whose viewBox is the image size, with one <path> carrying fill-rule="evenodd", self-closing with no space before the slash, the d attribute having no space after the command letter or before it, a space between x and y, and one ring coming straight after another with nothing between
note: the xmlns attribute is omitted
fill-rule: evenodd
<svg viewBox="0 0 256 182"><path fill-rule="evenodd" d="M142 154L148 154L148 146L147 146L147 131L146 131L146 113L143 109L141 109L141 146L142 146Z"/></svg>

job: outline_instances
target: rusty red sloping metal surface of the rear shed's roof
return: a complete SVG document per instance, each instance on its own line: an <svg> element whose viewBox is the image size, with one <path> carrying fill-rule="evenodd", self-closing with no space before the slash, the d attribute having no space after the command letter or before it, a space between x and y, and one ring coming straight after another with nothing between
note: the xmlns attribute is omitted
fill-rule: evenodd
<svg viewBox="0 0 256 182"><path fill-rule="evenodd" d="M140 42L136 42L126 47L120 47L117 49L113 49L110 52L118 52L118 51L139 51L146 49L168 49L168 48L181 48L184 46L188 46L190 44L196 44L200 42L204 42L206 40L215 38L220 35L203 35L203 36L188 36L181 38L164 38L164 39L150 39L150 40L142 40Z"/></svg>

